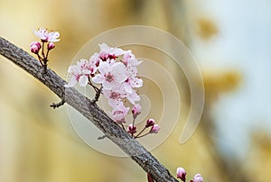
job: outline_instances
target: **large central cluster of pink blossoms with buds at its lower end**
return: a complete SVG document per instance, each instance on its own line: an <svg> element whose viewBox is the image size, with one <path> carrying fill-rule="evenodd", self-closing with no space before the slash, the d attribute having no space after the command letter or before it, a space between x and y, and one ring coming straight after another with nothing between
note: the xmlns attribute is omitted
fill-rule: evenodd
<svg viewBox="0 0 271 182"><path fill-rule="evenodd" d="M124 101L129 101L133 105L134 121L128 126L127 132L134 136L135 118L141 113L141 105L135 104L140 100L135 89L143 86L143 80L137 74L137 66L142 61L138 61L131 50L112 48L106 43L99 44L99 48L100 51L94 53L89 60L80 59L76 65L70 66L68 84L65 86L75 86L78 82L79 86L89 84L96 92L101 89L102 94L107 98L108 105L113 108L111 112L113 119L122 126L126 123L126 114L130 110ZM93 83L101 85L101 88L94 86ZM153 119L150 121L153 123L147 124L147 122L145 125L145 128L151 127L148 133L158 132L159 126L154 124ZM141 136L137 135L137 137Z"/></svg>

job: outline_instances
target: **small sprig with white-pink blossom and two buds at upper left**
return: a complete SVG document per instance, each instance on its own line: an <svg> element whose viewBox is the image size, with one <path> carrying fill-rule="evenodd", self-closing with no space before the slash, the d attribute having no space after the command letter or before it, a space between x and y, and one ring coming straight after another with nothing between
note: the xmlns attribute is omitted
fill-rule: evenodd
<svg viewBox="0 0 271 182"><path fill-rule="evenodd" d="M30 45L31 51L38 56L42 67L47 68L48 62L48 54L49 51L54 49L55 45L53 42L60 41L58 38L60 37L59 32L48 32L47 29L39 28L38 31L34 31L36 36L41 39L40 41L33 41ZM47 51L45 53L45 48ZM42 53L40 55L40 50Z"/></svg>

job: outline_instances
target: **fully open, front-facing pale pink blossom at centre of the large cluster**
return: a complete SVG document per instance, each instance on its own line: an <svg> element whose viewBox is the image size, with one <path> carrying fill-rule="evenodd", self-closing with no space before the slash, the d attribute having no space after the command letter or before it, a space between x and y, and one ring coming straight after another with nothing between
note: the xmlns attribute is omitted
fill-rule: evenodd
<svg viewBox="0 0 271 182"><path fill-rule="evenodd" d="M101 62L98 66L100 74L92 78L94 83L102 84L104 89L110 90L117 88L119 84L126 80L125 66L121 62L110 65L107 62Z"/></svg>

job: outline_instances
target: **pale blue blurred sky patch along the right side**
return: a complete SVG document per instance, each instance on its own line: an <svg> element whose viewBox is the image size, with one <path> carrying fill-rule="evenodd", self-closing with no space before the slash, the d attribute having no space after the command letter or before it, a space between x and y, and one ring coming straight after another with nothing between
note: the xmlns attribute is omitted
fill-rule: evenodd
<svg viewBox="0 0 271 182"><path fill-rule="evenodd" d="M244 159L249 133L258 128L271 135L271 1L210 0L201 11L219 30L210 41L192 40L201 68L235 68L243 77L237 90L213 105L212 117L222 152Z"/></svg>

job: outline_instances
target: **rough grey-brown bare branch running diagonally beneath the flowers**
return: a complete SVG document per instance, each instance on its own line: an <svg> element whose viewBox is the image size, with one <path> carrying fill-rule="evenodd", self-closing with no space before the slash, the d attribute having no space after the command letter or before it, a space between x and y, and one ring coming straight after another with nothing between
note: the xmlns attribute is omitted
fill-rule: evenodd
<svg viewBox="0 0 271 182"><path fill-rule="evenodd" d="M138 141L135 141L117 123L112 121L98 105L92 104L89 98L82 96L76 89L64 87L65 80L54 71L48 69L47 73L44 73L37 59L1 37L0 54L37 78L67 104L88 118L99 130L105 133L109 140L116 143L131 159L135 160L145 172L150 173L155 181L178 181L149 151L145 150Z"/></svg>

